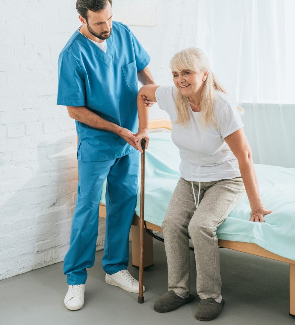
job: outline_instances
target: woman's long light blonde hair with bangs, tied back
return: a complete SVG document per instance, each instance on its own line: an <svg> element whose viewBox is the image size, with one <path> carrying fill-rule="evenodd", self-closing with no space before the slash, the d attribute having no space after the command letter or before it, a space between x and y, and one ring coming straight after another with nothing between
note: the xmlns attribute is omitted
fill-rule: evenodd
<svg viewBox="0 0 295 325"><path fill-rule="evenodd" d="M184 71L190 70L193 72L205 72L208 71L207 78L203 82L203 89L201 94L201 121L206 127L208 124L212 124L215 129L217 129L217 121L215 120L213 114L213 105L216 96L216 91L221 91L225 94L227 92L219 84L215 78L213 72L210 69L210 64L205 53L196 47L186 48L178 53L176 53L170 61L170 68L172 71ZM176 123L185 125L190 119L190 114L188 111L187 103L188 98L177 91L177 95L174 98L178 118ZM244 110L237 106L240 115L244 113Z"/></svg>

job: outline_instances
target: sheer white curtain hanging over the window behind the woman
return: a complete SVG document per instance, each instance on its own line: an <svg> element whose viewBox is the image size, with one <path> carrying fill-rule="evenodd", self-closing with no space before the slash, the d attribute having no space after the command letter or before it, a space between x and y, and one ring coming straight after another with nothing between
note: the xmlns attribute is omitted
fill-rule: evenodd
<svg viewBox="0 0 295 325"><path fill-rule="evenodd" d="M214 68L245 109L254 162L295 167L295 1L229 3L211 1L213 17L231 12L213 21Z"/></svg>

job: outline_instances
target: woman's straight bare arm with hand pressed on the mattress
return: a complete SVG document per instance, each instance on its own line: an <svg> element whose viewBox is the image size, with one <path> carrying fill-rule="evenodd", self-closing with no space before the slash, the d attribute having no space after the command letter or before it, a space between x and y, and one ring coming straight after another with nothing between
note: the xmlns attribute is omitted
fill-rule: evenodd
<svg viewBox="0 0 295 325"><path fill-rule="evenodd" d="M261 201L257 176L252 160L252 152L244 129L239 129L225 137L224 140L239 162L241 176L252 210L250 221L259 222L260 220L261 222L264 222L264 215L270 214L272 211L266 211Z"/></svg>

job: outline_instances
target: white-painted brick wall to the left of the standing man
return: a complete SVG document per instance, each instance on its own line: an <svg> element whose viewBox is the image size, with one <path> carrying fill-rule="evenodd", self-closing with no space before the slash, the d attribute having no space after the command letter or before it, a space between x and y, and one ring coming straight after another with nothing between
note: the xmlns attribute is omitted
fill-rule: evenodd
<svg viewBox="0 0 295 325"><path fill-rule="evenodd" d="M0 279L63 261L77 192L76 132L56 106L75 1L0 0ZM100 220L101 221L101 220ZM100 222L97 249L104 244Z"/></svg>

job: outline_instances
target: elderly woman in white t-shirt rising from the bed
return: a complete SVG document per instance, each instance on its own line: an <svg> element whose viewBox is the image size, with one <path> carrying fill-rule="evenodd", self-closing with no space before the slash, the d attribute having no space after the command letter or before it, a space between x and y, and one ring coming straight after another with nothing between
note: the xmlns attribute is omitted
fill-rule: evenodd
<svg viewBox="0 0 295 325"><path fill-rule="evenodd" d="M174 86L146 85L138 94L136 142L148 136L147 99L156 101L172 122L172 141L179 149L181 177L172 195L162 229L168 263L168 292L154 304L168 312L194 300L190 295L189 236L197 268L196 311L199 320L216 318L221 296L216 228L243 196L248 195L250 221L264 222L251 149L237 107L210 70L202 50L188 48L174 55L170 67Z"/></svg>

